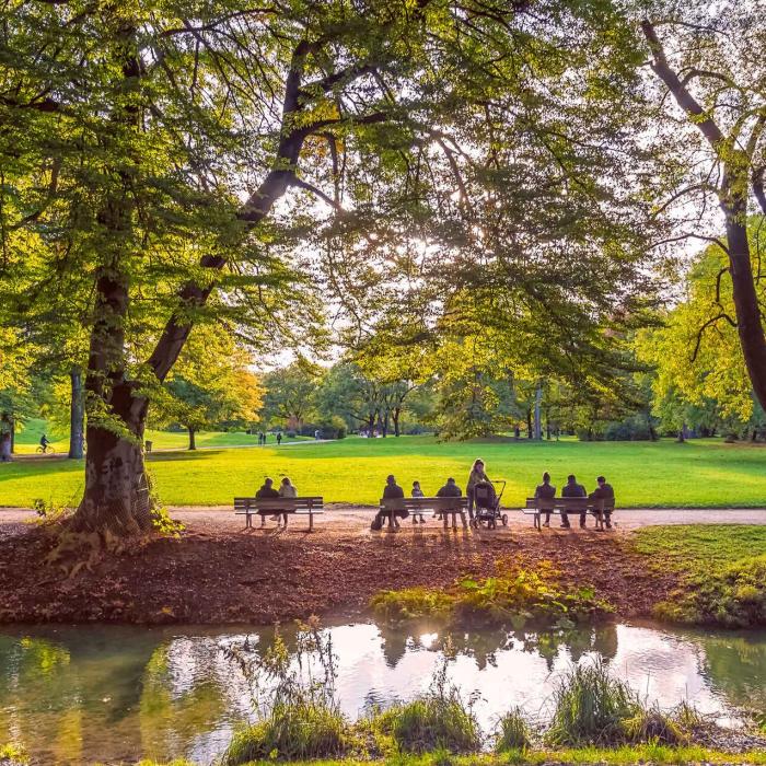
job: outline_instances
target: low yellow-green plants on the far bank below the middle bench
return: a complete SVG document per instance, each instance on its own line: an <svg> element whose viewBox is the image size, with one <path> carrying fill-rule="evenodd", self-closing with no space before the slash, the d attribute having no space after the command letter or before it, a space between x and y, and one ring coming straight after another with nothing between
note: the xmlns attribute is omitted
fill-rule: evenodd
<svg viewBox="0 0 766 766"><path fill-rule="evenodd" d="M450 591L407 588L383 591L370 605L381 617L450 617L456 622L502 624L525 618L541 624L572 624L612 612L591 587L556 581L550 566L484 579L464 578Z"/></svg>

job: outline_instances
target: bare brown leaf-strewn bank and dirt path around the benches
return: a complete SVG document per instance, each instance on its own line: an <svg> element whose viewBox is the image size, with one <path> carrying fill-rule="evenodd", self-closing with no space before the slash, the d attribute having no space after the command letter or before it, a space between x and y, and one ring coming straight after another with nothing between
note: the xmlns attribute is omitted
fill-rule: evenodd
<svg viewBox="0 0 766 766"><path fill-rule="evenodd" d="M225 510L225 512L223 512ZM370 509L334 507L309 534L304 518L278 530L243 531L230 509L177 509L179 539L152 539L74 577L45 565L51 542L24 510L0 510L0 622L266 624L328 612L353 613L386 588L449 587L463 574L553 561L593 584L622 617L647 616L675 584L648 571L626 545L646 523L766 523L764 511L620 511L614 532L542 533L529 517L497 531L448 530L405 521L371 532ZM592 524L592 521L590 522Z"/></svg>

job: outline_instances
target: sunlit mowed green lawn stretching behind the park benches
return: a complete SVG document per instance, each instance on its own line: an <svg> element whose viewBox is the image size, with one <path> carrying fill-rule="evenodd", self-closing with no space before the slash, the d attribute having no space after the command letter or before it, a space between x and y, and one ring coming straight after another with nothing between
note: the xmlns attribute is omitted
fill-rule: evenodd
<svg viewBox="0 0 766 766"><path fill-rule="evenodd" d="M159 438L156 442L162 443ZM604 474L623 508L766 507L766 448L719 440L440 443L432 437L352 437L280 448L153 453L148 464L169 506L230 504L234 496L252 495L265 476L278 480L285 475L303 495L322 495L328 502L374 504L390 473L407 494L413 479L420 480L427 495L436 492L448 476L465 488L471 464L479 456L492 479L508 481L503 502L511 507L523 503L544 471L559 487L567 474L574 473L589 490L595 477ZM35 498L72 504L82 486L81 461L39 456L0 465L0 506L30 506Z"/></svg>

